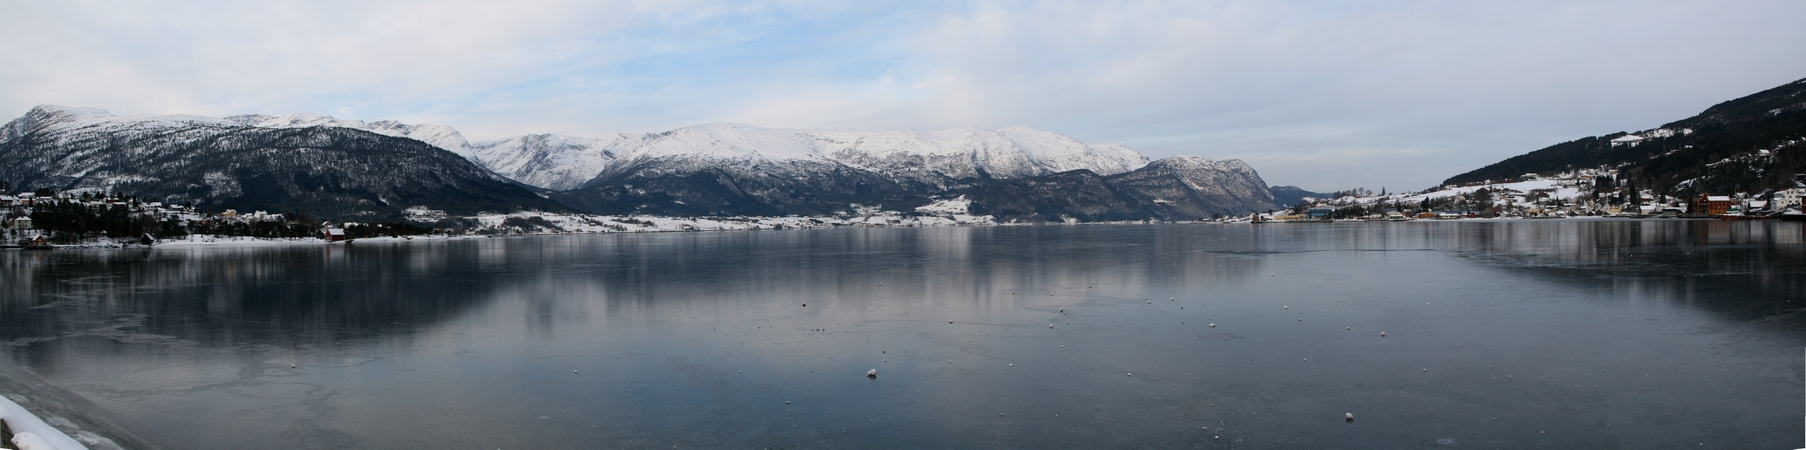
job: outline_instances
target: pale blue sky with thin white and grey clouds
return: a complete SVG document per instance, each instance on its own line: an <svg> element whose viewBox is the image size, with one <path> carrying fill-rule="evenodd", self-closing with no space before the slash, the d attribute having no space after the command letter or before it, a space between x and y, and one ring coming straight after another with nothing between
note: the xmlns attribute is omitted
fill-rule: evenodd
<svg viewBox="0 0 1806 450"><path fill-rule="evenodd" d="M0 0L0 116L1020 125L1396 192L1806 78L1802 23L1797 0Z"/></svg>

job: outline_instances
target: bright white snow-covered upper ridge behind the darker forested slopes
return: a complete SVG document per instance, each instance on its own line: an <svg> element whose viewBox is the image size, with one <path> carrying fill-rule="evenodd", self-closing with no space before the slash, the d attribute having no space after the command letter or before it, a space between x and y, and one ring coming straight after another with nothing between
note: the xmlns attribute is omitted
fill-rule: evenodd
<svg viewBox="0 0 1806 450"><path fill-rule="evenodd" d="M833 163L876 172L896 183L945 190L973 181L1037 177L1080 168L1111 175L1147 164L1145 155L1122 145L1085 145L1062 134L1026 127L860 132L708 123L601 139L529 134L470 143L457 130L441 125L365 123L320 114L251 114L226 119L262 128L341 127L412 137L545 190L571 190L591 179L639 170L663 175L701 166L769 168Z"/></svg>

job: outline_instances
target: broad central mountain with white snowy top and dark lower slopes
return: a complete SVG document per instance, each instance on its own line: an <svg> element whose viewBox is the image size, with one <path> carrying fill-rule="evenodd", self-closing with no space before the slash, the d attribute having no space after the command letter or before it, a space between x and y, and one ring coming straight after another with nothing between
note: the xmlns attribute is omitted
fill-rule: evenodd
<svg viewBox="0 0 1806 450"><path fill-rule="evenodd" d="M1147 164L1127 146L1091 146L1031 128L939 132L782 130L735 123L609 141L616 159L554 199L587 211L697 215L836 213L914 206L925 195L1071 170ZM506 173L506 172L504 172Z"/></svg>

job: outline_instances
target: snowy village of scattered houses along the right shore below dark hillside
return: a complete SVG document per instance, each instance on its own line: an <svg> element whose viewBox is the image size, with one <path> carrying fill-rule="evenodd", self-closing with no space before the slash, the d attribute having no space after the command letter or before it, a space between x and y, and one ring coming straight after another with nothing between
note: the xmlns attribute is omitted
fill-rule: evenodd
<svg viewBox="0 0 1806 450"><path fill-rule="evenodd" d="M1333 199L1306 199L1282 211L1232 220L1324 222L1324 220L1452 220L1452 219L1725 219L1806 220L1801 197L1806 188L1779 192L1701 192L1663 195L1638 190L1618 179L1618 170L1573 170L1553 175L1524 173L1515 179L1448 184L1412 193L1338 192Z"/></svg>

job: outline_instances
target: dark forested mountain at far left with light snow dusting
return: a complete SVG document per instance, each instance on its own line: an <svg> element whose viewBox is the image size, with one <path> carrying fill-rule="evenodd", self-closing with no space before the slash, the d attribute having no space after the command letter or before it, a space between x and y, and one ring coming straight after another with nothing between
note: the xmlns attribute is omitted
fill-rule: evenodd
<svg viewBox="0 0 1806 450"><path fill-rule="evenodd" d="M101 190L327 219L396 219L410 206L453 213L563 210L439 146L320 117L36 107L0 127L0 179L23 190ZM415 134L444 130L412 127Z"/></svg>

